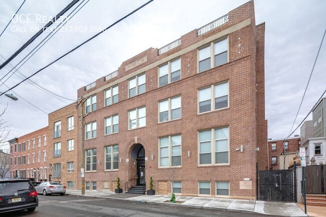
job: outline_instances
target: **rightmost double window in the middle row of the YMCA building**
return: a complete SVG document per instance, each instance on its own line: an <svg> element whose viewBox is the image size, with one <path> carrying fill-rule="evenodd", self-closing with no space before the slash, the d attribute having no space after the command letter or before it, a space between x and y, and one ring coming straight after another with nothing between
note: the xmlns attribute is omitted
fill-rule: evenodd
<svg viewBox="0 0 326 217"><path fill-rule="evenodd" d="M201 89L198 91L198 97L199 113L227 108L229 106L229 82Z"/></svg>

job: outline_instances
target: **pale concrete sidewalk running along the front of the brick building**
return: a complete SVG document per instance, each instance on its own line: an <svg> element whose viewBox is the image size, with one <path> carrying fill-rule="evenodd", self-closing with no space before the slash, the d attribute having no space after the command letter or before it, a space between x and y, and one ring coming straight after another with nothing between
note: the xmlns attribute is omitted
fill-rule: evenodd
<svg viewBox="0 0 326 217"><path fill-rule="evenodd" d="M67 189L67 194L82 195L81 190ZM182 203L169 203L171 195L145 195L121 193L115 194L110 191L85 191L83 196L94 196L104 198L114 198L121 200L131 200L137 202L160 203L166 205L180 205L184 207L229 210L249 213L260 213L281 216L308 216L304 211L293 202L270 202L260 200L243 200L229 198L212 198L212 197L193 197L193 196L176 196L176 200Z"/></svg>

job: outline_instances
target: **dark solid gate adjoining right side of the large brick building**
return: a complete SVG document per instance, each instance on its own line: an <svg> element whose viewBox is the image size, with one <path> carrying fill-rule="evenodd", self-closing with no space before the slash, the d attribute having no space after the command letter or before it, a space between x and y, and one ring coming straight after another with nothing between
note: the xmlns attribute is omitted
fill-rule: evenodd
<svg viewBox="0 0 326 217"><path fill-rule="evenodd" d="M293 171L259 171L259 199L269 201L295 202Z"/></svg>

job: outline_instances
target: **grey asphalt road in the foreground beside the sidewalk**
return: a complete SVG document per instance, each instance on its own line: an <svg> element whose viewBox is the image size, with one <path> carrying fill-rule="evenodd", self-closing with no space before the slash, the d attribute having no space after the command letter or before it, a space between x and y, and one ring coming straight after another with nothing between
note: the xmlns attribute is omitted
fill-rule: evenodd
<svg viewBox="0 0 326 217"><path fill-rule="evenodd" d="M95 198L75 195L39 195L39 206L34 212L27 210L7 212L0 216L33 216L33 217L74 217L74 216L259 216L232 211L219 211L210 209L186 208L179 206L168 206L150 204L144 202L121 201L116 199Z"/></svg>

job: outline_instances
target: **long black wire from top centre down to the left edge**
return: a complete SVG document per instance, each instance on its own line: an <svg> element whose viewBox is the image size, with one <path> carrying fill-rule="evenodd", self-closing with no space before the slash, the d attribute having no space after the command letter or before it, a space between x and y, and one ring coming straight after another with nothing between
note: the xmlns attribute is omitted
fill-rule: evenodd
<svg viewBox="0 0 326 217"><path fill-rule="evenodd" d="M30 75L28 78L24 79L23 81L21 81L20 83L18 83L17 85L13 86L12 88L8 89L7 91L5 91L4 93L0 94L0 96L4 95L5 93L7 93L8 91L14 89L15 87L19 86L20 84L22 84L24 81L26 81L27 79L33 77L34 75L38 74L39 72L41 72L42 70L48 68L49 66L51 66L52 64L54 64L55 62L57 62L58 60L62 59L63 57L67 56L68 54L72 53L73 51L77 50L78 48L80 48L81 46L83 46L84 44L86 44L87 42L93 40L94 38L96 38L97 36L99 36L100 34L104 33L105 31L107 31L108 29L110 29L111 27L113 27L114 25L116 25L117 23L121 22L122 20L124 20L125 18L129 17L130 15L134 14L135 12L137 12L138 10L142 9L143 7L145 7L146 5L148 5L149 3L153 2L154 0L150 0L147 3L143 4L142 6L140 6L139 8L135 9L134 11L130 12L129 14L127 14L126 16L124 16L123 18L119 19L118 21L114 22L112 25L108 26L107 28L105 28L103 31L95 34L93 37L89 38L88 40L86 40L85 42L83 42L82 44L78 45L77 47L75 47L74 49L70 50L69 52L67 52L66 54L62 55L61 57L59 57L58 59L56 59L55 61L49 63L47 66L43 67L42 69L40 69L39 71L35 72L34 74Z"/></svg>

